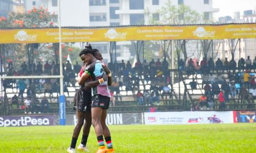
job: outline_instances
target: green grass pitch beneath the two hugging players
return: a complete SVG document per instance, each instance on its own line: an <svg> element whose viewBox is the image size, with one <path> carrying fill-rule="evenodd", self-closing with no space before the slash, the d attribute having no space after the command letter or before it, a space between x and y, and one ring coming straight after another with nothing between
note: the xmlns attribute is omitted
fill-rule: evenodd
<svg viewBox="0 0 256 153"><path fill-rule="evenodd" d="M0 128L0 152L66 152L73 128ZM109 128L115 152L256 152L256 124L115 125ZM81 137L77 146L80 141ZM87 146L90 152L97 149L93 128Z"/></svg>

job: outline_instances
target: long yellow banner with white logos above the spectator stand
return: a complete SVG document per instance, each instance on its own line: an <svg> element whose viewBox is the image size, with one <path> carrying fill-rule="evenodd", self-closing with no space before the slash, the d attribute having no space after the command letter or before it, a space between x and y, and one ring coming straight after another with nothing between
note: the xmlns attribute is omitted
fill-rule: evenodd
<svg viewBox="0 0 256 153"><path fill-rule="evenodd" d="M225 25L152 25L108 28L62 28L62 42L130 40L201 40L256 38L256 23ZM0 29L0 43L59 42L58 28Z"/></svg>

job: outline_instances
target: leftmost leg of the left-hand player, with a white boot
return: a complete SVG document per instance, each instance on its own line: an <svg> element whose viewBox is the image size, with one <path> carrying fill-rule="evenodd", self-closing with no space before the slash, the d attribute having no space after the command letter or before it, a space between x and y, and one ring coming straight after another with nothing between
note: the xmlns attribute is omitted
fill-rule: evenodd
<svg viewBox="0 0 256 153"><path fill-rule="evenodd" d="M79 137L79 133L82 128L82 125L84 125L84 112L76 111L76 116L77 116L77 124L73 131L71 145L67 150L68 152L75 152L77 138Z"/></svg>

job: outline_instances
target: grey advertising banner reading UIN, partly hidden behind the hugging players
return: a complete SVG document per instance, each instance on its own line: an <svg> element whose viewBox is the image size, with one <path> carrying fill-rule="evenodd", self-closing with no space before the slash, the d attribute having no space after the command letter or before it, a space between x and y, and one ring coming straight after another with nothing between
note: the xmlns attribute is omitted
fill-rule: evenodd
<svg viewBox="0 0 256 153"><path fill-rule="evenodd" d="M67 125L76 125L76 114L67 115ZM134 125L142 123L142 113L108 113L106 118L108 125Z"/></svg>

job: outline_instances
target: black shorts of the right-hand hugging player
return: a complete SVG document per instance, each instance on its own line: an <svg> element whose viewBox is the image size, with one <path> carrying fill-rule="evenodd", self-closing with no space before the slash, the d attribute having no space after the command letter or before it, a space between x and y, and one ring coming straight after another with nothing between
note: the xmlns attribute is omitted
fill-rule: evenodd
<svg viewBox="0 0 256 153"><path fill-rule="evenodd" d="M109 109L109 101L110 97L99 94L94 95L92 96L92 108L100 107L102 109Z"/></svg>

